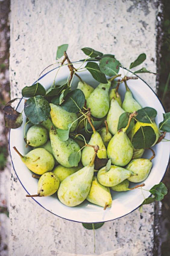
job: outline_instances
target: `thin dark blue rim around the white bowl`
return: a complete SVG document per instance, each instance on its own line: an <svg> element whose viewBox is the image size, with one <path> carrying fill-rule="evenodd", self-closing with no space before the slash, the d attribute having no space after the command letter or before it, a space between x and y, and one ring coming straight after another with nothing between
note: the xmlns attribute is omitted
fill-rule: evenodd
<svg viewBox="0 0 170 256"><path fill-rule="evenodd" d="M98 60L94 60L94 62L97 62L97 63L98 63ZM77 60L77 61L74 61L74 62L72 62L72 63L84 63L84 61ZM32 85L34 85L36 82L40 81L42 78L45 77L45 75L47 75L48 73L52 72L53 70L56 70L57 68L60 68L60 66L58 66L58 67L56 67L56 68L52 68L52 70L49 70L47 73L45 73L45 74L42 75L40 78L38 78L38 80L36 80L35 82L33 82ZM142 80L142 82L145 82L145 80L143 80L142 78L140 78L139 75L136 75L136 74L133 73L131 70L128 70L128 68L124 68L124 67L122 67L122 66L120 66L120 68L123 68L124 70L127 70L128 72L130 72L130 73L132 73L133 75L137 76L137 78L139 78L140 80ZM150 88L150 90L152 90L152 92L154 92L154 90L152 89L152 87L150 87L150 86L147 84L147 82L145 82L145 84ZM31 86L31 85L30 85L30 86ZM162 104L161 100L159 100L159 97L158 97L157 93L154 92L154 95L157 97L157 100L158 100L159 103L162 105L162 108L163 108L163 110L164 110L164 112L163 112L162 114L166 113L166 112L165 112L165 109L164 109L164 105ZM23 100L23 96L21 97L21 100ZM20 105L21 100L18 102L18 105L16 106L16 110L18 109L18 106ZM9 155L10 155L10 157L11 157L11 163L12 163L12 166L13 166L13 170L15 171L15 174L16 174L16 176L17 176L17 178L18 178L18 181L20 181L21 185L23 186L23 183L21 182L20 178L18 177L18 174L17 174L16 169L15 169L14 164L13 164L13 159L12 159L12 156L11 156L11 143L10 143L10 142L11 142L11 129L9 129L9 133L8 133L8 149L9 149ZM170 161L170 155L169 155L169 161ZM161 178L161 180L159 181L159 183L162 182L162 180L163 180L163 178L164 178L164 176L165 176L165 174L166 174L166 171L167 171L168 166L169 166L169 161L167 162L167 166L166 166L166 169L165 169L165 171L164 171L164 175L162 176L162 178ZM28 194L30 194L30 193L26 190L25 186L23 186L23 188L25 189L25 191L26 191ZM152 194L150 193L150 195L148 196L148 198L151 197L151 196L152 196ZM38 201L36 201L35 198L32 198L32 199L33 199L36 203L38 203L39 206L41 206L42 208L44 208L45 210L47 210L49 213L52 213L52 211L48 210L47 208L45 208L44 206L42 206L41 203L39 203ZM140 203L140 205L137 206L135 209L130 210L129 213L126 213L126 214L124 214L124 215L122 215L122 216L120 216L120 217L118 217L118 218L113 218L113 220L118 220L118 219L120 219L120 218L125 217L126 215L129 215L129 214L132 213L133 211L137 210L137 208L140 208L140 206L142 206L142 203ZM57 215L56 213L52 213L52 214L55 215L55 216L57 216L57 217L59 217L59 218L62 218L62 219L64 219L64 220L69 220L69 218L64 218L64 217L62 217L62 216L60 216L60 215ZM93 222L93 223L103 223L103 222L105 223L105 222L113 221L113 220L105 220L105 221L100 221L100 222L96 221L96 222ZM86 223L86 222L82 222L82 221L78 221L78 220L69 220L69 221L73 221L73 222L75 222L75 223Z"/></svg>

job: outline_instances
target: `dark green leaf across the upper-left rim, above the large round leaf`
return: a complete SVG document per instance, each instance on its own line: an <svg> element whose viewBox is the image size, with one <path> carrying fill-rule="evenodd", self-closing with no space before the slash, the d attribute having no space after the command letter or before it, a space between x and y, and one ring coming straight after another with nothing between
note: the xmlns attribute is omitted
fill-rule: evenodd
<svg viewBox="0 0 170 256"><path fill-rule="evenodd" d="M43 96L45 95L45 88L39 82L36 82L34 85L24 87L22 95L23 97Z"/></svg>

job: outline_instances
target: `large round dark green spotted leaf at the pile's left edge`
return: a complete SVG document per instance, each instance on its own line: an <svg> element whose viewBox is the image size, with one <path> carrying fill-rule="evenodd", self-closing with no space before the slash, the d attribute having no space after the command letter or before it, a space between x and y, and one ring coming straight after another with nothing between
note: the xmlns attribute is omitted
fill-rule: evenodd
<svg viewBox="0 0 170 256"><path fill-rule="evenodd" d="M30 97L24 105L24 112L26 117L33 124L40 124L47 120L50 115L50 105L44 97L38 95L35 97Z"/></svg>

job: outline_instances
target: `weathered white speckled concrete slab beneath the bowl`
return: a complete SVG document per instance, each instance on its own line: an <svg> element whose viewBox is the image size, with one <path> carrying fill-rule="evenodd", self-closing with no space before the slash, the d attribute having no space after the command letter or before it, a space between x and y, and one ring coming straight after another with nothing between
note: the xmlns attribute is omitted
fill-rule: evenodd
<svg viewBox="0 0 170 256"><path fill-rule="evenodd" d="M55 62L57 46L69 43L69 58L84 58L81 48L113 53L127 66L147 53L145 67L156 71L158 1L11 0L11 98ZM154 75L141 75L156 90ZM62 220L31 198L12 170L11 256L153 255L154 206L105 223L94 234L81 223Z"/></svg>

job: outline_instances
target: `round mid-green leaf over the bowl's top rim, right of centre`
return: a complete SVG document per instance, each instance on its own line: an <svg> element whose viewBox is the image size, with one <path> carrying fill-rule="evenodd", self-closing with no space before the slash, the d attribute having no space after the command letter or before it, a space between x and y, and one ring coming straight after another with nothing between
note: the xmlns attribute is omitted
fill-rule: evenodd
<svg viewBox="0 0 170 256"><path fill-rule="evenodd" d="M120 62L115 58L105 57L101 59L99 67L101 72L111 77L118 74Z"/></svg>

